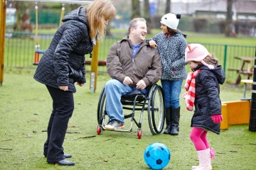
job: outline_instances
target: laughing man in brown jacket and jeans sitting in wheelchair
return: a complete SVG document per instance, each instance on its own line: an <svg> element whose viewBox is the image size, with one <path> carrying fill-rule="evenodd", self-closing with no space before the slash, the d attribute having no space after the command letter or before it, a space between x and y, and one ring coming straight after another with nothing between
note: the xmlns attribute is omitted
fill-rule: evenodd
<svg viewBox="0 0 256 170"><path fill-rule="evenodd" d="M161 78L159 52L146 43L146 20L134 18L129 23L128 36L115 42L107 55L107 72L112 78L105 84L106 110L110 122L106 130L124 128L121 97L146 87Z"/></svg>

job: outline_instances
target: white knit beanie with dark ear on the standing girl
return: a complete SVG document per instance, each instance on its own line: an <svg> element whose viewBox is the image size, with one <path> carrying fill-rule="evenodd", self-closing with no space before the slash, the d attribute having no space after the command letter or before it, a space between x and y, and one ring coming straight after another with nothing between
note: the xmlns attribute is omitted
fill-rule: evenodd
<svg viewBox="0 0 256 170"><path fill-rule="evenodd" d="M177 30L178 21L181 18L181 14L167 13L162 16L160 23L166 25L167 27Z"/></svg>

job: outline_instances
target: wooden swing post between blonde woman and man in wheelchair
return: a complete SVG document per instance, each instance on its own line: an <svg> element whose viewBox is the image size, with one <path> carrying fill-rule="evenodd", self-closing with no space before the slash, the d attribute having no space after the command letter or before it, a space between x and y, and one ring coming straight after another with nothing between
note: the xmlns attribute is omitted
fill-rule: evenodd
<svg viewBox="0 0 256 170"><path fill-rule="evenodd" d="M97 87L97 67L98 67L98 55L99 55L99 41L96 40L96 45L92 50L92 62L91 62L91 79L90 89L94 93Z"/></svg>

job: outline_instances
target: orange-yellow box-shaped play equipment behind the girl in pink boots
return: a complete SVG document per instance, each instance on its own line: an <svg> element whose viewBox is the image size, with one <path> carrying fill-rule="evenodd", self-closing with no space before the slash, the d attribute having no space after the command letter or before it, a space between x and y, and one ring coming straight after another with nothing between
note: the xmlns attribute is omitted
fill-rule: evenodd
<svg viewBox="0 0 256 170"><path fill-rule="evenodd" d="M228 129L228 125L248 124L250 122L250 100L223 102L222 115L221 130Z"/></svg>

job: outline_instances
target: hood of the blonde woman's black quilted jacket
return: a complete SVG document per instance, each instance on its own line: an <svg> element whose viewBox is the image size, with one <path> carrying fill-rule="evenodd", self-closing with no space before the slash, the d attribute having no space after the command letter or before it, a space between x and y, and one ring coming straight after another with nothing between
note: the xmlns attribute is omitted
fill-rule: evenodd
<svg viewBox="0 0 256 170"><path fill-rule="evenodd" d="M86 9L84 7L79 7L74 11L70 11L70 13L66 14L63 17L63 22L70 21L70 20L80 21L82 23L85 23L88 26Z"/></svg>

